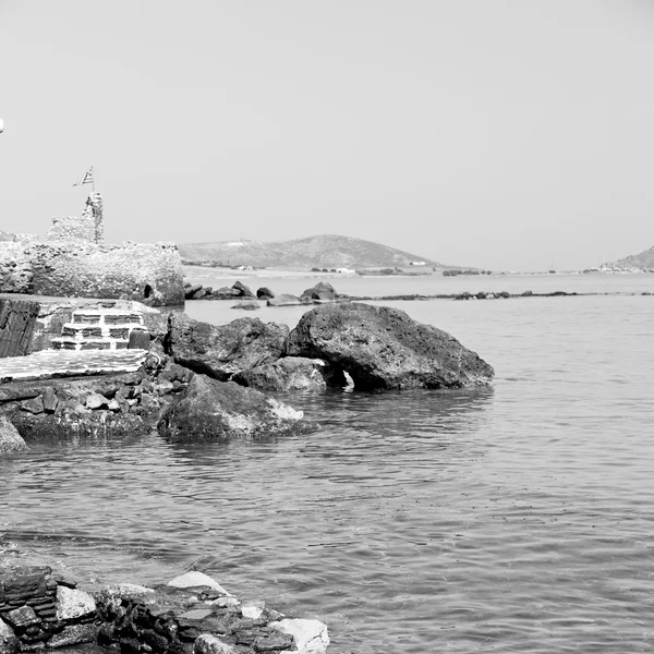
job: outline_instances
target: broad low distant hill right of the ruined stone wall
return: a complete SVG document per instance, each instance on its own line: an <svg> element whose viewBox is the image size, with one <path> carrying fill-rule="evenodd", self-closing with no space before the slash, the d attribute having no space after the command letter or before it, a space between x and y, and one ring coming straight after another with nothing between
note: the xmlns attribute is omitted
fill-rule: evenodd
<svg viewBox="0 0 654 654"><path fill-rule="evenodd" d="M322 234L292 241L220 241L214 243L181 243L178 245L184 263L220 263L230 266L259 268L387 268L425 262L427 266L452 268L417 254L388 245Z"/></svg>

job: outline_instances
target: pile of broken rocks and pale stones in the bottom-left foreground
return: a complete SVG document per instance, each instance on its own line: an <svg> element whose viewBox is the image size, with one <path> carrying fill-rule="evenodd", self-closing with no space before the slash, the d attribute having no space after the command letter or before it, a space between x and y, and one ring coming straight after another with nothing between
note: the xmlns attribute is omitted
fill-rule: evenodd
<svg viewBox="0 0 654 654"><path fill-rule="evenodd" d="M329 635L319 620L240 602L198 571L85 591L49 566L0 568L0 654L88 643L130 654L320 654Z"/></svg>

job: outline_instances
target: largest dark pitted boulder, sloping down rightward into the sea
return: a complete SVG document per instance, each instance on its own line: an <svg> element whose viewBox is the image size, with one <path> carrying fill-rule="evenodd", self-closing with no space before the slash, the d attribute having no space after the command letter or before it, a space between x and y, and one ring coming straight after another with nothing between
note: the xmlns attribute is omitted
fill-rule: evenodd
<svg viewBox="0 0 654 654"><path fill-rule="evenodd" d="M488 384L493 368L456 338L388 306L324 304L305 313L287 353L323 359L359 389L462 388Z"/></svg>

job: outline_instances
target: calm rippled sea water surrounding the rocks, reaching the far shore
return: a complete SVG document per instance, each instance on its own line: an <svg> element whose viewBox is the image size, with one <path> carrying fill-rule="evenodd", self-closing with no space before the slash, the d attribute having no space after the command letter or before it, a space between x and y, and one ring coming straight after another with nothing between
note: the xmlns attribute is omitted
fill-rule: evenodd
<svg viewBox="0 0 654 654"><path fill-rule="evenodd" d="M263 443L36 444L0 461L0 548L98 581L195 565L334 653L654 651L654 276L332 283L611 294L387 303L493 364L487 390L295 395L320 431Z"/></svg>

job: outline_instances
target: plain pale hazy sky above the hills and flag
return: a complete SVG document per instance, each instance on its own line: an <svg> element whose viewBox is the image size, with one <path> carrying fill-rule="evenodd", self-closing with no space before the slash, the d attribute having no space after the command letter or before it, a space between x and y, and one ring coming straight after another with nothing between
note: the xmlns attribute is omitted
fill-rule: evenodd
<svg viewBox="0 0 654 654"><path fill-rule="evenodd" d="M0 0L0 229L335 233L579 268L654 245L650 0Z"/></svg>

